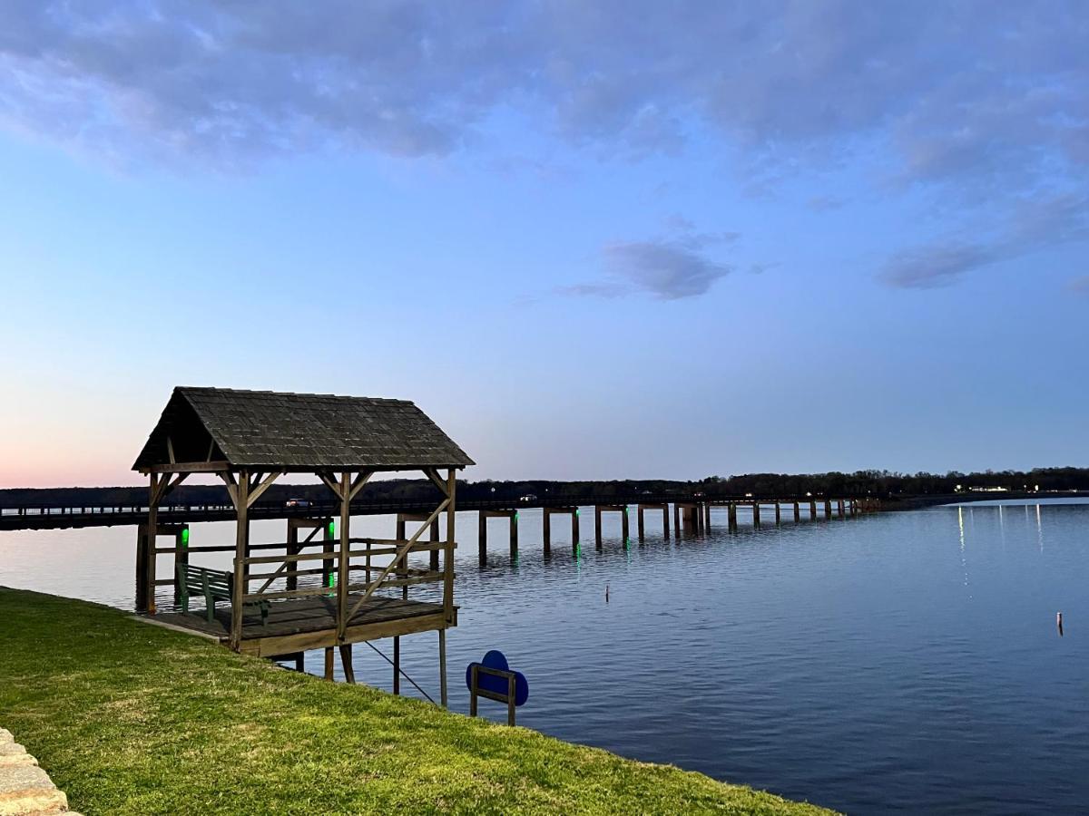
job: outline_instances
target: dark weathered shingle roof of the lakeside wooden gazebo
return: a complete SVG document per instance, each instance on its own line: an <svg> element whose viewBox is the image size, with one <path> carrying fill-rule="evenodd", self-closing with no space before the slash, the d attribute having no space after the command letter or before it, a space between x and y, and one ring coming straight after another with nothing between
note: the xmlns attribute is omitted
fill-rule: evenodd
<svg viewBox="0 0 1089 816"><path fill-rule="evenodd" d="M133 465L220 459L238 468L416 470L473 465L403 399L179 386ZM199 452L199 453L195 453Z"/></svg>

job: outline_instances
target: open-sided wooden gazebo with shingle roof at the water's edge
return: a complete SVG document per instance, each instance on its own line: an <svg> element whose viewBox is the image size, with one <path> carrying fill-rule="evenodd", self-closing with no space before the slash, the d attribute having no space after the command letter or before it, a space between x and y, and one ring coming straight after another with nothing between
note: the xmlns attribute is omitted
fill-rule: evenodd
<svg viewBox="0 0 1089 816"><path fill-rule="evenodd" d="M189 474L212 473L227 485L236 516L230 608L216 613L211 621L205 615L176 613L157 616L160 620L169 618L171 625L220 636L235 651L267 657L326 648L327 672L332 647L339 646L350 680L352 643L438 630L445 703L444 632L457 622L455 473L473 463L411 401L176 387L133 466L147 474L150 492L147 524L137 545L137 608L155 614L155 588L163 583L157 576L161 551L156 540L173 531L160 528L159 506ZM421 471L438 489L438 504L407 539L352 537L351 503L383 471ZM332 492L339 503L338 534L314 544L289 536L260 545L264 553L282 544L284 555L254 556L249 510L290 473L313 473ZM444 540L420 542L421 533L443 515ZM305 552L318 545L320 552ZM199 552L189 547L186 556ZM425 568L409 564L409 555L418 552L430 554ZM306 561L321 561L322 569L306 569ZM298 585L301 576L316 572L322 573L320 585ZM428 583L441 583L441 603L408 599L409 586ZM389 594L394 589L400 597ZM267 620L244 615L244 608L255 604L268 610Z"/></svg>

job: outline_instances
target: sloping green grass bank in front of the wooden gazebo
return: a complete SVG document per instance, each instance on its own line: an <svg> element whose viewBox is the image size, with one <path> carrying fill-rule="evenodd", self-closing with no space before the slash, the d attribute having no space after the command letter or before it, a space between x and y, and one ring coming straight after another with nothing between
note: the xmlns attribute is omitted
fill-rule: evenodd
<svg viewBox="0 0 1089 816"><path fill-rule="evenodd" d="M0 726L88 815L827 813L5 589Z"/></svg>

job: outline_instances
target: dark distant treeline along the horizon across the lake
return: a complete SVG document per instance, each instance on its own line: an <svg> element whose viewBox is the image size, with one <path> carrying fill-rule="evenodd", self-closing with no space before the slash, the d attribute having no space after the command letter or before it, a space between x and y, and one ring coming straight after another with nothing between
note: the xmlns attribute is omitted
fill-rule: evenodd
<svg viewBox="0 0 1089 816"><path fill-rule="evenodd" d="M678 482L666 479L556 482L480 481L458 482L457 496L463 499L517 499L533 494L541 498L633 498L644 494L707 496L744 496L766 498L776 496L906 496L949 495L981 487L1005 487L1010 491L1086 491L1089 490L1089 468L1035 468L1029 471L992 471L960 473L894 473L888 470L859 470L855 473L749 473L736 477L708 477L699 481ZM435 485L425 479L390 479L368 484L360 500L424 500L438 496ZM328 500L329 490L322 484L277 484L262 500L285 502L289 498ZM146 487L9 487L0 490L0 507L21 506L132 506L147 502ZM219 485L183 484L168 502L179 505L227 504L227 491Z"/></svg>

